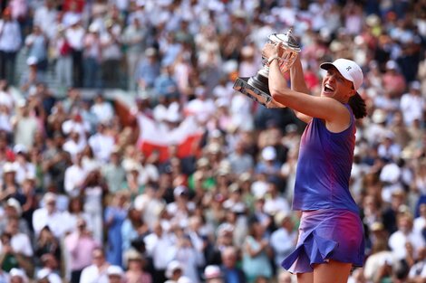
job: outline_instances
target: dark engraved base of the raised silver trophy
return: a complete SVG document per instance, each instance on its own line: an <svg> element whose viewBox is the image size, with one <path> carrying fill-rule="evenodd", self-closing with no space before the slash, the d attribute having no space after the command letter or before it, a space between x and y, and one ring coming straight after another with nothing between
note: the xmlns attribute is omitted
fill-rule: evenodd
<svg viewBox="0 0 426 283"><path fill-rule="evenodd" d="M266 108L284 108L284 105L272 99L267 81L268 79L259 73L249 78L237 78L234 83L234 90L247 95L247 97L262 104Z"/></svg>

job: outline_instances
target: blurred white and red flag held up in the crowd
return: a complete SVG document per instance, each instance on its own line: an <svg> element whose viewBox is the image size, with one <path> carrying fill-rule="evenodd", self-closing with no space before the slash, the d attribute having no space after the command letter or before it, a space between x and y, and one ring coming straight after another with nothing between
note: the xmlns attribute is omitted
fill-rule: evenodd
<svg viewBox="0 0 426 283"><path fill-rule="evenodd" d="M159 154L160 162L169 158L169 146L178 146L178 157L198 155L199 141L203 130L194 116L188 116L178 127L167 128L156 120L140 114L138 116L140 136L138 147L145 156Z"/></svg>

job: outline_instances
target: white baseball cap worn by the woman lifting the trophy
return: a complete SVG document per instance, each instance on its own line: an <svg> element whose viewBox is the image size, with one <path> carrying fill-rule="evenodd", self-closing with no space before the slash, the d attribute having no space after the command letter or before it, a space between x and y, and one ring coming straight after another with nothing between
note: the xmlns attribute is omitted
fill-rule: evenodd
<svg viewBox="0 0 426 283"><path fill-rule="evenodd" d="M352 81L353 88L355 91L358 91L363 84L363 71L357 63L352 60L341 58L334 62L325 62L320 65L320 67L324 70L328 70L332 66L334 66L334 68L337 69L342 76L344 76L344 79Z"/></svg>

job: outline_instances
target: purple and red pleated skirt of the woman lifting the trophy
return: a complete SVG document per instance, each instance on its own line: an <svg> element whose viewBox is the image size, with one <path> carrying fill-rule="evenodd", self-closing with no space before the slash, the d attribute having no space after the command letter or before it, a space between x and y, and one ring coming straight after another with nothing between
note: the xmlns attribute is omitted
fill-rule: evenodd
<svg viewBox="0 0 426 283"><path fill-rule="evenodd" d="M281 265L292 273L306 273L330 259L363 266L363 223L359 215L342 209L302 212L296 248Z"/></svg>

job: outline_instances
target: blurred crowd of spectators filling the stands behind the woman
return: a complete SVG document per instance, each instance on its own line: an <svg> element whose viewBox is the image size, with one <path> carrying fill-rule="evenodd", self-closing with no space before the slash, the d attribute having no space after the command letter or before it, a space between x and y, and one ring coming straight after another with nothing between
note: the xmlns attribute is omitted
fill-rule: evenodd
<svg viewBox="0 0 426 283"><path fill-rule="evenodd" d="M425 1L10 0L1 10L0 282L295 282L280 262L297 238L304 125L232 89L261 68L267 36L289 27L313 93L323 61L350 58L364 72L351 192L366 250L350 282L425 282ZM46 80L52 69L65 98ZM111 88L132 106L105 98ZM166 160L142 154L140 116L177 127L189 115L203 131L189 156L176 145Z"/></svg>

